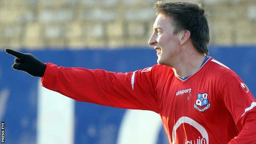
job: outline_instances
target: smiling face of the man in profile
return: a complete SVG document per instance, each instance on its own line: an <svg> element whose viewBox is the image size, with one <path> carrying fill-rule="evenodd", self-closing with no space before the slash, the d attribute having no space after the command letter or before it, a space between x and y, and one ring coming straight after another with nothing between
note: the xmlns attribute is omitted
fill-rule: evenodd
<svg viewBox="0 0 256 144"><path fill-rule="evenodd" d="M181 53L179 34L173 34L174 27L170 18L161 14L155 19L154 32L149 39L149 45L157 51L158 64L172 66Z"/></svg>

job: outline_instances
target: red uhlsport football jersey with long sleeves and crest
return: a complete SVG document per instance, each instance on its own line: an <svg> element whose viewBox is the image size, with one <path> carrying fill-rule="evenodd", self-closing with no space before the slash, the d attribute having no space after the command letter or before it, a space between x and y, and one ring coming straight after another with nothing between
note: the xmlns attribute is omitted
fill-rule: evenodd
<svg viewBox="0 0 256 144"><path fill-rule="evenodd" d="M43 87L77 101L160 114L172 144L256 144L256 100L212 57L186 80L160 64L130 73L46 63Z"/></svg>

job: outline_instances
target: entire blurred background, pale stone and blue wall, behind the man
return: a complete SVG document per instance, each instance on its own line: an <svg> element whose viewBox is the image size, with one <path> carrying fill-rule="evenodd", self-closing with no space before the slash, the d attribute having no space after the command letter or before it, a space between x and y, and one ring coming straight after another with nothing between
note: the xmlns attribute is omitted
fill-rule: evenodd
<svg viewBox="0 0 256 144"><path fill-rule="evenodd" d="M167 2L167 0L163 0ZM183 0L171 0L183 1ZM256 95L256 0L192 0L210 14L210 56ZM73 101L11 69L5 48L59 66L128 72L156 64L156 0L0 0L0 120L7 144L168 144L160 117Z"/></svg>

